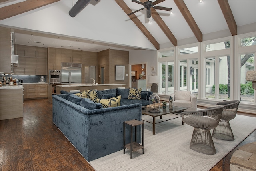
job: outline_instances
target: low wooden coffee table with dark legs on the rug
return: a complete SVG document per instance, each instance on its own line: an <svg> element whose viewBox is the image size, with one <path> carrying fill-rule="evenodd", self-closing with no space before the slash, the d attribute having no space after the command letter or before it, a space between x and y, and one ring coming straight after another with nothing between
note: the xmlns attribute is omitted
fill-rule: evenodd
<svg viewBox="0 0 256 171"><path fill-rule="evenodd" d="M160 116L160 119L162 119L162 115L167 115L167 114L175 114L177 115L177 117L175 118L172 118L172 119L176 119L178 117L181 117L180 113L183 112L184 110L186 110L188 108L186 107L177 107L177 106L173 106L173 109L169 109L168 106L164 109L162 107L160 107L160 113L151 113L151 112L148 112L148 107L146 107L144 110L141 111L142 114L144 115L149 115L149 116L152 116L153 117L153 122L149 122L149 121L145 121L145 122L148 122L148 123L152 123L153 124L153 135L156 135L156 117ZM169 121L169 120L172 120L172 119L168 119L168 120L164 120L164 121ZM161 123L161 122L164 122L164 121L160 121L158 123ZM184 123L182 122L182 125L184 125Z"/></svg>

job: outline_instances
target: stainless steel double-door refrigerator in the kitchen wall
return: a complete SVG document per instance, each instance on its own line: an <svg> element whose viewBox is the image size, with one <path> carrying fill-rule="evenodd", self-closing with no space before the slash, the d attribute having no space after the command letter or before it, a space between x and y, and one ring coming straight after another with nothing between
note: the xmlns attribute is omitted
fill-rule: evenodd
<svg viewBox="0 0 256 171"><path fill-rule="evenodd" d="M82 64L61 63L61 83L81 84Z"/></svg>

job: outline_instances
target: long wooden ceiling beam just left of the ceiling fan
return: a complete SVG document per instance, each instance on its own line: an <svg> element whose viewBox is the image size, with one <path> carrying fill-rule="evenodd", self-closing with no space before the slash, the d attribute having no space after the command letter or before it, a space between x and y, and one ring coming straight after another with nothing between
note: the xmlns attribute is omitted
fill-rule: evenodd
<svg viewBox="0 0 256 171"><path fill-rule="evenodd" d="M126 14L130 14L132 12L132 10L127 6L127 4L123 0L115 0L115 1L122 8L122 10L124 10ZM159 43L148 31L148 29L140 22L140 20L136 17L136 15L131 14L129 17L134 22L134 24L140 29L140 31L148 38L148 40L154 45L154 47L157 50L160 49Z"/></svg>

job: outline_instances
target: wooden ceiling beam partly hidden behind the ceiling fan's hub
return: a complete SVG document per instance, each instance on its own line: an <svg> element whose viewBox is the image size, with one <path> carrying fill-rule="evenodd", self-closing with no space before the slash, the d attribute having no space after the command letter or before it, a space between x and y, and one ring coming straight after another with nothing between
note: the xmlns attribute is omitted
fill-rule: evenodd
<svg viewBox="0 0 256 171"><path fill-rule="evenodd" d="M140 0L140 2L146 2L147 0ZM174 46L178 46L178 41L175 38L175 36L172 34L171 30L168 28L168 26L165 24L164 20L160 17L158 12L154 8L150 8L151 10L151 16L154 18L155 22L158 24L158 26L162 29L164 34L167 36L167 38L172 42Z"/></svg>

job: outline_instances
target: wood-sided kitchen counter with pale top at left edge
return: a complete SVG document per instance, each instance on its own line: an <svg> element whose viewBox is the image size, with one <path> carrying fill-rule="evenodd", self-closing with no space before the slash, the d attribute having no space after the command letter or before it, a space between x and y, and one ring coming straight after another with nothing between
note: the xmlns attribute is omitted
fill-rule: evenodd
<svg viewBox="0 0 256 171"><path fill-rule="evenodd" d="M23 86L0 87L0 120L23 117Z"/></svg>

